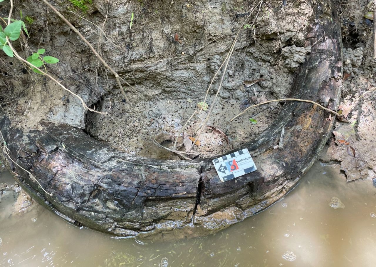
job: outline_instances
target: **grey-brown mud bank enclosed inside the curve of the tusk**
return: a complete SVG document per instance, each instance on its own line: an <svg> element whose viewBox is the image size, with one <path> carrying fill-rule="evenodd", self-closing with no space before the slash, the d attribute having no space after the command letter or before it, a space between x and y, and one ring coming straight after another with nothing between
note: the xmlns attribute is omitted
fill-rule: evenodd
<svg viewBox="0 0 376 267"><path fill-rule="evenodd" d="M1 102L7 103L3 108L12 121L26 128L38 128L42 120L65 123L82 128L96 139L129 154L159 157L162 153L161 158L176 159L155 145L150 149L150 137L143 126L149 127L155 137L167 135L161 143L168 143L177 136L197 109L197 103L204 100L208 85L223 63L237 30L257 3L178 1L171 5L170 1L93 1L88 5L88 12L82 14L69 3L57 1L59 9L70 9L84 17L63 12L121 75L131 102L126 103L114 77L62 21L54 15L47 16L46 11L51 11L42 3L20 2L15 5L14 14L22 9L23 14L33 14L35 20L28 25L30 38L17 49L23 50L26 57L43 47L46 54L58 57L60 63L47 66L48 70L80 95L88 106L109 115L87 113L77 99L53 82L29 71L24 74L24 67L8 58L1 68L2 73L7 72L1 81ZM6 10L3 12L5 16ZM134 19L130 29L132 12ZM257 136L273 121L279 104L256 108L229 123L241 112L240 105L244 101L256 103L255 96L265 101L288 94L293 72L286 69L281 49L302 46L311 15L311 5L303 2L282 6L280 1L270 1L255 10L246 21L249 27L240 32L219 98L213 104L222 71L207 98L209 108L214 105L207 125L225 133L229 144L223 136L205 128L199 138L201 146L194 148L197 154L204 157L223 154ZM106 35L93 23L102 27ZM175 33L178 41L175 41ZM259 78L264 80L252 87L246 88L243 84L244 80ZM195 136L207 114L208 111L202 111L194 116L183 132ZM258 123L252 124L249 118ZM185 150L180 140L177 145Z"/></svg>

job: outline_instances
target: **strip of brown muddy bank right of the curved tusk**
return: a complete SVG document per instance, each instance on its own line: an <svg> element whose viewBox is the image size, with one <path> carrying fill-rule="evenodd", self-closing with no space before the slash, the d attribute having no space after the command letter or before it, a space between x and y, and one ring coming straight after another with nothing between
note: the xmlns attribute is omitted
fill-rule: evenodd
<svg viewBox="0 0 376 267"><path fill-rule="evenodd" d="M347 73L342 83L341 111L347 122L337 121L334 130L346 142L336 142L333 135L326 155L321 156L326 162L339 162L347 181L376 177L376 63L372 56L372 21L364 18L367 4L358 0L339 8Z"/></svg>

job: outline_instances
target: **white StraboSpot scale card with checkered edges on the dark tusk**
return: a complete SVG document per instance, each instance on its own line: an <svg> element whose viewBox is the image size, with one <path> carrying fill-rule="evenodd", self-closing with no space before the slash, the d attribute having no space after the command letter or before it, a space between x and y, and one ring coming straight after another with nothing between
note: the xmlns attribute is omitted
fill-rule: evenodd
<svg viewBox="0 0 376 267"><path fill-rule="evenodd" d="M221 182L240 177L257 168L247 148L213 160Z"/></svg>

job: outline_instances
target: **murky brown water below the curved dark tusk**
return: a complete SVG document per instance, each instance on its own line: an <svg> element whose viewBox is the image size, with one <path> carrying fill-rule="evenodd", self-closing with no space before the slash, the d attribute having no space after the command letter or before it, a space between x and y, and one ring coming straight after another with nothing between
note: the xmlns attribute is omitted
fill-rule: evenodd
<svg viewBox="0 0 376 267"><path fill-rule="evenodd" d="M8 172L1 182L10 181ZM347 183L338 165L316 163L266 211L215 235L179 241L120 240L34 207L0 203L0 266L374 266L376 188Z"/></svg>

